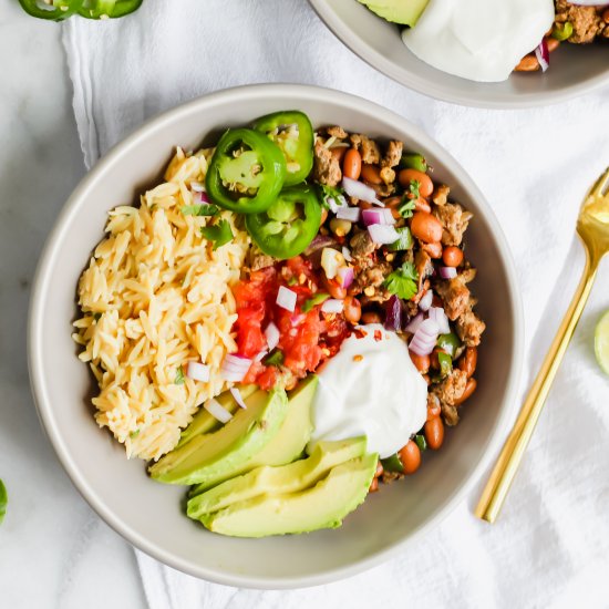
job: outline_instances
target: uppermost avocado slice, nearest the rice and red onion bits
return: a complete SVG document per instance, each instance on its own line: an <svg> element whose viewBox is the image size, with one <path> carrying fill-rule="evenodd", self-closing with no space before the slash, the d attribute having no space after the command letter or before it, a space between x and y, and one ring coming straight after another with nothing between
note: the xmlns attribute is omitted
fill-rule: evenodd
<svg viewBox="0 0 609 609"><path fill-rule="evenodd" d="M197 435L167 453L149 468L151 476L167 484L213 485L239 473L281 427L288 396L283 390L257 391L246 405L217 432Z"/></svg>

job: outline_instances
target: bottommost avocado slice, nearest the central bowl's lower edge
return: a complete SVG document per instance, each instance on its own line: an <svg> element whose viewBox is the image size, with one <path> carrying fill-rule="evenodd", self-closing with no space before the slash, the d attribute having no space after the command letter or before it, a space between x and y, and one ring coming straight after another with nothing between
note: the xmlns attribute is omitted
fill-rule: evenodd
<svg viewBox="0 0 609 609"><path fill-rule="evenodd" d="M368 495L376 471L376 453L337 465L312 488L285 495L261 495L205 514L211 531L231 537L266 537L337 528Z"/></svg>

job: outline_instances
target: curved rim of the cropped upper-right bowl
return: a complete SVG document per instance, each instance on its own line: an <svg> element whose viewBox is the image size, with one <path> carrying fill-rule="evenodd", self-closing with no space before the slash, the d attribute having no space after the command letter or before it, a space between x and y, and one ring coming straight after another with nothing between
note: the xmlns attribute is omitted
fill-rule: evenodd
<svg viewBox="0 0 609 609"><path fill-rule="evenodd" d="M328 0L309 0L309 3L327 28L348 49L355 53L361 60L365 61L371 68L382 72L385 76L389 76L402 86L442 102L487 110L522 110L565 102L609 84L608 69L602 74L591 76L580 83L564 86L557 91L523 93L522 95L514 96L514 100L510 101L479 100L473 95L460 93L451 87L435 84L427 79L417 76L416 74L409 74L406 79L403 69L396 66L382 53L379 53L373 47L367 44L353 33L351 29L348 28L340 19L340 17L338 17L337 13L330 8Z"/></svg>

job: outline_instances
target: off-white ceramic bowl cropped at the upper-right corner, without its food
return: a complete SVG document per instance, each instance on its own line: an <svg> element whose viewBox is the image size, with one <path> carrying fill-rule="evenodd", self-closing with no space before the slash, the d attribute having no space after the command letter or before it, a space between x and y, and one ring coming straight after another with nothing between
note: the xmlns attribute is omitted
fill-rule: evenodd
<svg viewBox="0 0 609 609"><path fill-rule="evenodd" d="M400 28L357 0L309 0L328 28L354 53L399 83L456 104L516 109L560 102L609 85L607 45L562 44L545 73L476 83L431 68L406 49ZM481 2L484 0L481 0Z"/></svg>

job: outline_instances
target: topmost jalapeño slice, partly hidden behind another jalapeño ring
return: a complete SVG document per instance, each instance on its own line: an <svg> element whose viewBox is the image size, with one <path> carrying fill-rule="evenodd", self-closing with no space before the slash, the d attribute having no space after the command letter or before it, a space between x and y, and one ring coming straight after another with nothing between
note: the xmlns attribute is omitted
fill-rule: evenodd
<svg viewBox="0 0 609 609"><path fill-rule="evenodd" d="M313 127L309 117L298 110L275 112L254 122L254 128L275 142L286 157L285 186L307 179L313 168Z"/></svg>

